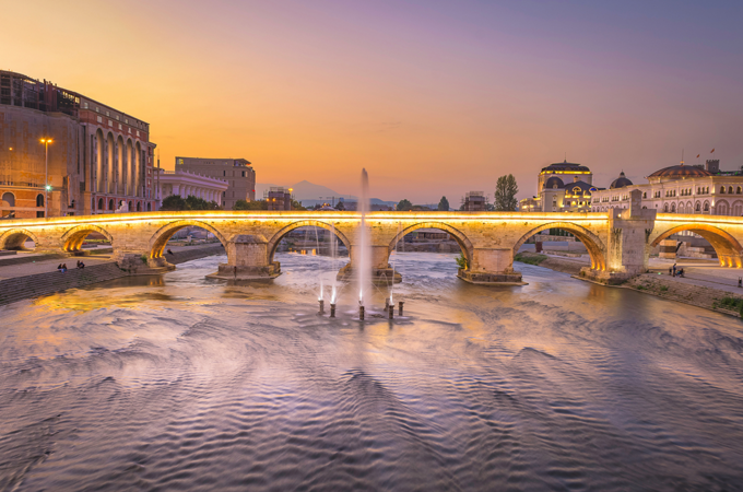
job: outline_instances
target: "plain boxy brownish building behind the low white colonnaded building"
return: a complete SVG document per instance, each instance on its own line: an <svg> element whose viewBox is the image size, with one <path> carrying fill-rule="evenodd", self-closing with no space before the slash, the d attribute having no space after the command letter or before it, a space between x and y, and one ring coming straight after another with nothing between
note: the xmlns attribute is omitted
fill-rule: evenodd
<svg viewBox="0 0 743 492"><path fill-rule="evenodd" d="M176 171L182 169L227 181L219 203L232 210L237 200L256 199L256 171L245 159L176 157Z"/></svg>

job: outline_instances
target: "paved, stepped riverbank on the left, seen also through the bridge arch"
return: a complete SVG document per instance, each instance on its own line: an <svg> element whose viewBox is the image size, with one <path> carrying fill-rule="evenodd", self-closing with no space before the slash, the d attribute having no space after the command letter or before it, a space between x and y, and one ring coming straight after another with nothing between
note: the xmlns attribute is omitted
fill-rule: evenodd
<svg viewBox="0 0 743 492"><path fill-rule="evenodd" d="M173 255L167 255L167 260L173 265L224 254L224 248L219 243L170 249ZM85 262L84 269L74 268L76 259ZM64 273L57 270L60 261L68 263L69 270ZM0 305L129 276L128 271L121 270L108 257L66 257L63 261L54 257L23 265L0 266Z"/></svg>

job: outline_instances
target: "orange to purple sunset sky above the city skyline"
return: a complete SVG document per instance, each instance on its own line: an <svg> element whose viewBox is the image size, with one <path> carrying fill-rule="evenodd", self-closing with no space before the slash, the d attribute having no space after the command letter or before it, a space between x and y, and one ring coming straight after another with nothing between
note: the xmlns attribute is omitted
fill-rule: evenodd
<svg viewBox="0 0 743 492"><path fill-rule="evenodd" d="M176 155L452 206L567 160L608 186L743 165L743 2L0 0L0 67L151 125ZM600 4L600 5L599 5Z"/></svg>

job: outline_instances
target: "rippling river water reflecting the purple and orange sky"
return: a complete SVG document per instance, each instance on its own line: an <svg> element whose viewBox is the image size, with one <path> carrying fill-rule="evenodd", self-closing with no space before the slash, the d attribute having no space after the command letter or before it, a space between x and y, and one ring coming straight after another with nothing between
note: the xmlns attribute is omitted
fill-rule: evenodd
<svg viewBox="0 0 743 492"><path fill-rule="evenodd" d="M743 490L740 320L453 256L397 255L393 323L292 254L0 307L0 490Z"/></svg>

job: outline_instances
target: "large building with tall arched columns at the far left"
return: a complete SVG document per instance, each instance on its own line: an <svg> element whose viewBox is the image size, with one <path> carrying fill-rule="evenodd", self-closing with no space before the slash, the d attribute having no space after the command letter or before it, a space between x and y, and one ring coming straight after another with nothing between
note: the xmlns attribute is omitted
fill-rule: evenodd
<svg viewBox="0 0 743 492"><path fill-rule="evenodd" d="M80 93L0 71L0 211L153 210L150 125ZM48 159L47 159L48 156Z"/></svg>

